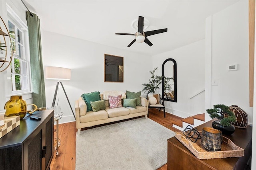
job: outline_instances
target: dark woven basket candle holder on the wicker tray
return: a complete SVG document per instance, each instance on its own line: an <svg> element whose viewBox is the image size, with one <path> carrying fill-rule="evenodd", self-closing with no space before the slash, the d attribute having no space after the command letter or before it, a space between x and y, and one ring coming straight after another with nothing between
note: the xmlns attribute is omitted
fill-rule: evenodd
<svg viewBox="0 0 256 170"><path fill-rule="evenodd" d="M206 150L220 151L221 136L220 131L211 127L203 127L201 143Z"/></svg>

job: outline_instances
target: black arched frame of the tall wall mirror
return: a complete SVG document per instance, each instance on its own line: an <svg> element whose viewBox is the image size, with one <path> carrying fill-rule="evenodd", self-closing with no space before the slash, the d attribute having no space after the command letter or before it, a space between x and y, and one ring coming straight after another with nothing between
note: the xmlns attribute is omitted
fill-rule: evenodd
<svg viewBox="0 0 256 170"><path fill-rule="evenodd" d="M167 61L172 61L174 64L174 100L164 98L164 64ZM170 102L177 102L177 63L174 59L166 59L162 64L162 99Z"/></svg>

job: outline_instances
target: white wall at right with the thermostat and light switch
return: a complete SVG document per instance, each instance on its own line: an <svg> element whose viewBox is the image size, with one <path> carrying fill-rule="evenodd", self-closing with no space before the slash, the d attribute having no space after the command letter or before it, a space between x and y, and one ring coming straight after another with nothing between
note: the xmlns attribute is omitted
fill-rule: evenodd
<svg viewBox="0 0 256 170"><path fill-rule="evenodd" d="M211 25L212 31L208 32L211 37L206 38L211 38L208 44L211 56L207 56L211 57L211 65L206 65L206 68L211 68L211 71L206 76L210 76L211 81L218 80L218 86L211 86L210 96L207 96L211 100L210 106L238 105L248 113L249 123L252 124L252 107L249 107L248 1L239 1L210 18L211 21L206 24ZM232 64L237 64L237 70L228 71L228 66Z"/></svg>

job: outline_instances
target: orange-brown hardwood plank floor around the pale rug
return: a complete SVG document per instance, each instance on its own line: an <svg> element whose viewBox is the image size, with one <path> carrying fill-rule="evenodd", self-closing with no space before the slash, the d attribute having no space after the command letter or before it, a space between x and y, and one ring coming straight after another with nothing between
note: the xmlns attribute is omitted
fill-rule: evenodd
<svg viewBox="0 0 256 170"><path fill-rule="evenodd" d="M158 109L148 109L150 119L156 121L157 123L167 127L172 131L179 131L178 129L172 127L172 123L181 120L181 117L166 113L166 118L164 118L163 111L158 111ZM144 117L144 116L143 116ZM56 125L54 125L56 129ZM59 138L60 147L58 148L59 154L56 155L56 150L54 151L54 156L50 165L51 170L74 170L76 165L76 122L64 123L59 125ZM54 133L54 138L56 138L56 133ZM164 164L158 170L167 170L167 164Z"/></svg>

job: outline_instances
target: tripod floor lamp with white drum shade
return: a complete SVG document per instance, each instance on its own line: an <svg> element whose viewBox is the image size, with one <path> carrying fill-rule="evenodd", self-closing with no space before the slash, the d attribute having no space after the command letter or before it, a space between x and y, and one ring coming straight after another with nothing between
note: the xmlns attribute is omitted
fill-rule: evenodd
<svg viewBox="0 0 256 170"><path fill-rule="evenodd" d="M63 84L60 80L70 80L71 78L71 70L68 69L68 68L63 68L63 67L46 67L46 70L45 70L45 78L47 79L55 79L55 80L58 80L57 84L56 84L56 89L55 89L55 93L54 93L54 98L53 98L53 101L52 101L52 107L54 107L55 105L55 100L56 100L56 96L57 96L57 92L58 92L58 88L59 88L59 85L62 86L62 89L65 93L65 96L68 100L68 96L66 94L66 91L63 87ZM74 118L76 119L75 117L75 114L74 114L74 111L70 105L70 102L68 100L68 104L70 106L70 109L74 115Z"/></svg>

